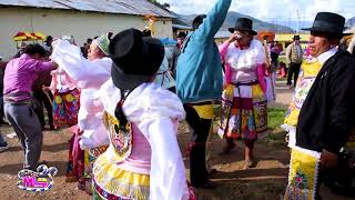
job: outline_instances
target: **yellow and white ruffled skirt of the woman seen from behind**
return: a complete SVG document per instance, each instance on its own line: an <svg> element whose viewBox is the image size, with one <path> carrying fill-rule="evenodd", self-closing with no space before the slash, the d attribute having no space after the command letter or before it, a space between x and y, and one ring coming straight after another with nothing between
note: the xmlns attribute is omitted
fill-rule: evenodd
<svg viewBox="0 0 355 200"><path fill-rule="evenodd" d="M93 167L94 199L146 200L150 196L150 176L125 171L111 162L105 154Z"/></svg>

